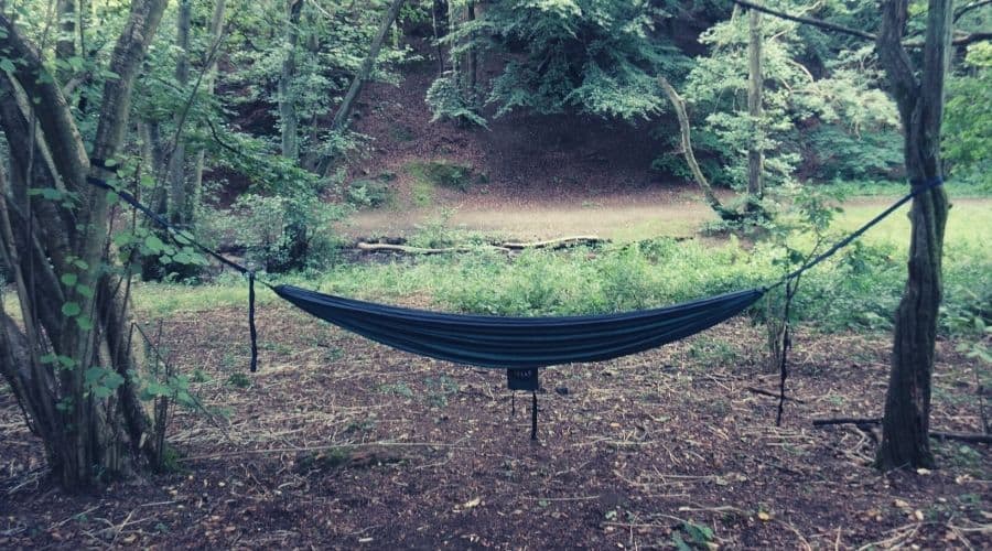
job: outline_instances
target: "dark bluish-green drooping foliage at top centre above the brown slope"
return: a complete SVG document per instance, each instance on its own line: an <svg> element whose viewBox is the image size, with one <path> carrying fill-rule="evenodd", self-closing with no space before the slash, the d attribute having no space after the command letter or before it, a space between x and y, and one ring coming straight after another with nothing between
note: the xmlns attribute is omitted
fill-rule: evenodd
<svg viewBox="0 0 992 551"><path fill-rule="evenodd" d="M508 0L488 4L445 42L452 57L476 47L506 60L486 97L497 117L527 109L635 120L664 110L655 75L683 71L687 63L656 32L668 17L643 0ZM434 83L429 102L435 117L481 123L453 75Z"/></svg>

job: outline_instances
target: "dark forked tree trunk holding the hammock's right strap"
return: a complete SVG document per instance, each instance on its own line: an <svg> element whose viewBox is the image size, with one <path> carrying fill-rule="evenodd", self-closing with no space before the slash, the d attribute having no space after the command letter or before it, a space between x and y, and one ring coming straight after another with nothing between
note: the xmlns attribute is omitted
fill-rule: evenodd
<svg viewBox="0 0 992 551"><path fill-rule="evenodd" d="M953 2L929 2L919 77L901 43L906 31L907 3L883 2L876 45L903 121L906 172L914 186L921 186L942 177L940 125ZM942 187L917 195L909 210L908 279L896 311L882 444L876 455L880 468L934 466L928 433L947 213Z"/></svg>

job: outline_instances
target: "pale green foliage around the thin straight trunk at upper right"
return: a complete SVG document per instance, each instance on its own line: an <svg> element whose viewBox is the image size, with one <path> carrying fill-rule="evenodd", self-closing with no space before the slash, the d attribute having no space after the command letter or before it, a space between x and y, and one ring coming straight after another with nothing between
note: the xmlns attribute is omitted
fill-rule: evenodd
<svg viewBox="0 0 992 551"><path fill-rule="evenodd" d="M773 186L792 181L804 159L817 166L810 175L821 177L892 172L901 161L898 120L892 101L875 88L881 77L871 50L833 53L821 61L824 74L817 77L804 65L810 43L796 23L764 18L762 33L759 120L746 111L746 18L716 23L700 36L710 52L689 73L686 96L696 111L705 114L698 145L704 155L721 160L713 181L743 187L744 152L755 142L765 152L765 179ZM707 169L713 171L713 164L704 164Z"/></svg>

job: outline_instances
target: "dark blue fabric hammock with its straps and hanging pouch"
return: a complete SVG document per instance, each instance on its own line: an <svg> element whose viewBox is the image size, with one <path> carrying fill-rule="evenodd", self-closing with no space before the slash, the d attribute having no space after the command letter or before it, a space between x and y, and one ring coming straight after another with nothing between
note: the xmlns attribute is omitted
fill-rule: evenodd
<svg viewBox="0 0 992 551"><path fill-rule="evenodd" d="M98 160L93 164L104 165ZM251 371L258 365L255 327L255 271L228 260L192 239L162 216L141 204L130 193L104 180L87 179L91 185L115 192L173 237L192 242L222 263L248 277L248 321L251 332ZM914 182L906 194L881 214L833 247L817 256L778 282L763 288L698 299L673 306L635 312L553 317L505 317L445 314L389 306L309 291L293 285L269 285L280 298L321 320L385 345L432 358L507 370L513 390L538 389L538 368L599 361L644 352L686 338L724 322L754 304L767 291L799 277L833 256L869 228L913 197L941 185L940 177ZM531 437L537 432L537 395L531 410Z"/></svg>

